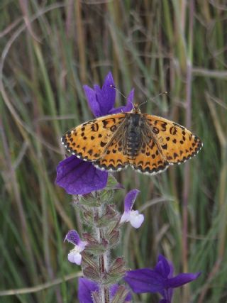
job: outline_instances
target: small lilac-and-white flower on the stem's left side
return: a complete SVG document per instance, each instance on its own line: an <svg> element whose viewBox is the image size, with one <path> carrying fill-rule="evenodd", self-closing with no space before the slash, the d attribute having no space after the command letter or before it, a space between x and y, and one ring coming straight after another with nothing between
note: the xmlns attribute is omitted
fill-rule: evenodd
<svg viewBox="0 0 227 303"><path fill-rule="evenodd" d="M65 241L66 240L68 242L74 244L74 248L72 250L70 250L70 253L68 254L68 260L71 263L80 265L81 260L82 260L82 255L80 253L82 253L85 246L87 246L87 242L81 241L79 238L79 234L77 233L77 231L74 231L74 230L69 231L67 233L67 235L65 236Z"/></svg>

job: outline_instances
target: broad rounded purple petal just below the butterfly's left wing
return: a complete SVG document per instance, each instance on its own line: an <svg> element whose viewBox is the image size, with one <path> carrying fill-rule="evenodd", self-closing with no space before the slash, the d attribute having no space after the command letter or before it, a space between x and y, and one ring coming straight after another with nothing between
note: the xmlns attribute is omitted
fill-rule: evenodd
<svg viewBox="0 0 227 303"><path fill-rule="evenodd" d="M89 194L103 189L107 183L107 172L97 170L91 162L79 160L72 155L57 165L56 184L68 194Z"/></svg>

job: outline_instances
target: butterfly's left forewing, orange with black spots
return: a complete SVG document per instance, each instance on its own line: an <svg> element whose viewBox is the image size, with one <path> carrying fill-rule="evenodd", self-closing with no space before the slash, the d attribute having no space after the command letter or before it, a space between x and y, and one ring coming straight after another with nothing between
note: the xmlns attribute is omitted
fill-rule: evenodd
<svg viewBox="0 0 227 303"><path fill-rule="evenodd" d="M83 123L62 137L65 148L83 160L96 161L106 153L106 146L125 118L125 114L113 114Z"/></svg>

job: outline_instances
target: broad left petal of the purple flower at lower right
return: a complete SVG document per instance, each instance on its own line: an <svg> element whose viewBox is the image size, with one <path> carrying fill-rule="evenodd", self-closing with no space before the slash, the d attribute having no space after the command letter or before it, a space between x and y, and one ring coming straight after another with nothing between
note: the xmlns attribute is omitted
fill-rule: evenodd
<svg viewBox="0 0 227 303"><path fill-rule="evenodd" d="M164 280L162 276L149 268L128 271L124 280L135 293L160 292L163 290Z"/></svg>

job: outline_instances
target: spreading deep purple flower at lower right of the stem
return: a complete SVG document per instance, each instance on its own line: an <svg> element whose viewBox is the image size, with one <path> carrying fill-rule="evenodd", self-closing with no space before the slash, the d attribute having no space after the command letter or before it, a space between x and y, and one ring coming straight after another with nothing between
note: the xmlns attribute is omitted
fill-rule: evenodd
<svg viewBox="0 0 227 303"><path fill-rule="evenodd" d="M163 299L160 303L171 303L173 289L196 280L201 272L182 273L173 277L174 267L163 255L159 255L157 265L152 270L143 268L128 271L124 280L130 285L133 292L159 292Z"/></svg>

